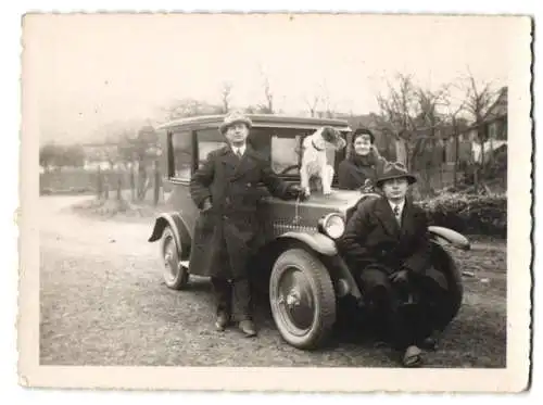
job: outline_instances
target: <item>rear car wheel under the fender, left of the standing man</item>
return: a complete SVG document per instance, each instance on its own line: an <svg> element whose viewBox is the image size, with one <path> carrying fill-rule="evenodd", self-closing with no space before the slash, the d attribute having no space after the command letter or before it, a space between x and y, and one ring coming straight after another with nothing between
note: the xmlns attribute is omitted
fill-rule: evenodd
<svg viewBox="0 0 543 405"><path fill-rule="evenodd" d="M189 282L189 269L180 265L181 250L168 226L162 233L163 279L167 288L182 290Z"/></svg>

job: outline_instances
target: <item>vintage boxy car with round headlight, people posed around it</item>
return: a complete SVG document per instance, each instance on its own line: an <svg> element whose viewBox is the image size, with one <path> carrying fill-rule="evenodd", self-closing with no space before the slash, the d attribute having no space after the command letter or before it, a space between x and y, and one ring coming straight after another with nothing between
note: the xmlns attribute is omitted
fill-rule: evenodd
<svg viewBox="0 0 543 405"><path fill-rule="evenodd" d="M269 157L273 170L287 181L300 181L301 142L321 126L332 126L344 137L351 128L343 121L277 115L250 115L253 128L248 142ZM164 151L165 185L171 189L168 212L161 214L150 242L161 240L164 281L171 289L187 288L191 274L191 241L199 211L191 200L191 175L209 152L222 147L225 138L218 126L224 116L199 116L164 124L157 128ZM348 142L349 143L349 142ZM345 150L328 151L337 168ZM336 179L334 179L336 181ZM312 350L326 342L339 315L341 302L350 300L363 306L363 296L352 273L338 254L334 240L344 231L345 222L358 203L376 194L338 190L312 193L305 201L283 201L262 187L258 205L262 243L250 263L256 291L267 293L275 324L291 345ZM451 319L462 304L463 284L449 243L469 249L457 232L429 227L433 263L441 269L451 289ZM265 296L265 295L264 295Z"/></svg>

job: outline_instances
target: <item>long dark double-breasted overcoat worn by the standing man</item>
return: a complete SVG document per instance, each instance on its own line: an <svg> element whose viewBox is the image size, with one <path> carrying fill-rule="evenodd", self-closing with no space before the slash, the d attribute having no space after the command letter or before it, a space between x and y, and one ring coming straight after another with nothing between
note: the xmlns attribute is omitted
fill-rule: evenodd
<svg viewBox="0 0 543 405"><path fill-rule="evenodd" d="M191 274L226 279L247 277L247 261L256 248L258 235L258 182L275 197L291 198L289 185L249 144L241 160L228 145L207 155L190 182L195 205L202 208L207 198L212 204L200 212L195 223Z"/></svg>

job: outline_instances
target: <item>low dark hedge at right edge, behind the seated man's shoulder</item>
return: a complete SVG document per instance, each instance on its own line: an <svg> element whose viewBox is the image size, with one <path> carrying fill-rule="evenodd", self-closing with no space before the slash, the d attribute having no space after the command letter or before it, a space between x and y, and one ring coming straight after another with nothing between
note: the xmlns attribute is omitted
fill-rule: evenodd
<svg viewBox="0 0 543 405"><path fill-rule="evenodd" d="M431 225L458 232L507 237L507 195L442 193L421 200L418 205Z"/></svg>

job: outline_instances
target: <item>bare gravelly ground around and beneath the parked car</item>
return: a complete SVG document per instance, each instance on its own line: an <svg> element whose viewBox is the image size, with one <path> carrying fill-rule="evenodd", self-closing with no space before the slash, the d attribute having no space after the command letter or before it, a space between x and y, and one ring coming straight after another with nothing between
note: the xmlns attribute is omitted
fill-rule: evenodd
<svg viewBox="0 0 543 405"><path fill-rule="evenodd" d="M162 282L159 244L147 242L152 218L83 216L71 208L81 199L40 199L40 364L396 366L361 329L338 331L317 352L296 350L281 340L265 305L257 339L214 331L207 280L194 279L184 292ZM505 367L505 241L478 238L471 251L453 254L473 275L465 277L464 305L426 364Z"/></svg>

